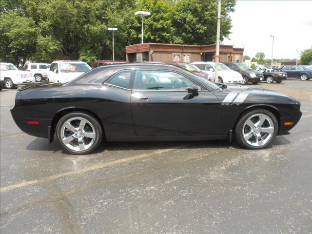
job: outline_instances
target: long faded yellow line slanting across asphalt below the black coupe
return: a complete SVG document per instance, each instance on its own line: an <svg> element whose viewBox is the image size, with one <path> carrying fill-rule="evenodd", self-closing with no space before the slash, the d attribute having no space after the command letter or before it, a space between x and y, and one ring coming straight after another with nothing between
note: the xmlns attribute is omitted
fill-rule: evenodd
<svg viewBox="0 0 312 234"><path fill-rule="evenodd" d="M126 157L126 158L118 159L118 160L115 160L115 161L106 162L106 163L94 165L94 166L91 166L91 167L83 168L83 169L80 169L80 170L77 170L77 171L65 172L65 173L54 175L54 176L43 177L42 179L35 179L35 180L26 181L26 182L19 183L19 184L9 185L9 186L0 188L0 193L6 192L6 191L10 191L10 190L13 190L13 189L23 188L23 187L26 187L26 186L29 186L29 185L39 184L39 183L42 183L42 182L58 179L58 178L65 177L65 176L74 176L74 175L77 175L77 174L80 174L80 173L86 173L86 172L89 172L89 171L102 169L102 168L113 166L113 165L120 164L120 163L130 162L130 161L137 160L137 159L144 158L144 157L149 157L149 156L153 156L153 155L160 155L160 154L163 154L163 153L167 153L167 152L173 151L175 149L183 148L184 146L186 146L186 145L177 146L177 147L173 147L173 148L170 148L170 149L157 150L157 151L154 151L154 152L149 153L149 154L146 153L146 154L141 154L141 155L137 155L137 156Z"/></svg>

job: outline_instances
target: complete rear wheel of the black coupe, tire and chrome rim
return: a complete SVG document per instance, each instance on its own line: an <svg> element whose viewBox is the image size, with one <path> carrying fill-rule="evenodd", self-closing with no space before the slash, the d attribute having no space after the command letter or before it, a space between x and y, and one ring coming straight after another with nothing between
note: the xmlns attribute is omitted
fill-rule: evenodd
<svg viewBox="0 0 312 234"><path fill-rule="evenodd" d="M91 153L102 140L100 123L85 112L71 112L61 117L56 133L63 149L75 155Z"/></svg>

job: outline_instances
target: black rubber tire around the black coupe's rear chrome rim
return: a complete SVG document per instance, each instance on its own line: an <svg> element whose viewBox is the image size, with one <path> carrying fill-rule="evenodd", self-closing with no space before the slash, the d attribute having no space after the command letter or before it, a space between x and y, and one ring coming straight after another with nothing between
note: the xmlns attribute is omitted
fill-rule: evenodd
<svg viewBox="0 0 312 234"><path fill-rule="evenodd" d="M90 146L90 148L87 148L86 150L76 151L76 150L73 150L74 147L73 147L73 149L70 149L63 142L62 137L61 137L61 129L62 129L63 125L68 120L73 119L73 118L79 118L79 117L86 119L87 121L89 121L93 125L94 130L95 130L95 140L92 143L92 145ZM72 136L74 134L75 133L73 132ZM70 154L74 154L74 155L85 155L85 154L91 153L92 151L94 151L95 149L98 148L98 145L100 144L100 142L102 140L102 137L103 137L103 131L102 131L101 125L100 125L100 123L99 123L99 121L97 120L96 117L94 117L94 116L92 116L92 115L90 115L89 113L86 113L86 112L71 112L71 113L68 113L68 114L66 114L65 116L63 116L63 117L61 117L59 119L59 122L58 122L57 127L56 127L56 136L59 139L60 145L62 146L62 148L65 151L69 152ZM76 135L75 135L75 137L76 137ZM82 137L82 138L84 138L84 137ZM89 139L89 138L87 138L87 139ZM73 144L74 144L75 143L74 141L76 141L76 140L78 141L78 137L74 138L74 140L72 140L70 143L73 142ZM84 145L84 143L83 143L83 145ZM76 146L76 148L77 148L77 146Z"/></svg>

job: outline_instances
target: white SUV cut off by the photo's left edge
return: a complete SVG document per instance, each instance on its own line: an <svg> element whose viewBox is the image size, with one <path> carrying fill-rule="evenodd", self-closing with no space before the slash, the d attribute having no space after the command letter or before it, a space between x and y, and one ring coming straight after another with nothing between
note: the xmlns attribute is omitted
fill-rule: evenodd
<svg viewBox="0 0 312 234"><path fill-rule="evenodd" d="M14 89L16 85L35 83L30 72L20 71L13 63L0 62L0 79L4 80L7 89Z"/></svg>

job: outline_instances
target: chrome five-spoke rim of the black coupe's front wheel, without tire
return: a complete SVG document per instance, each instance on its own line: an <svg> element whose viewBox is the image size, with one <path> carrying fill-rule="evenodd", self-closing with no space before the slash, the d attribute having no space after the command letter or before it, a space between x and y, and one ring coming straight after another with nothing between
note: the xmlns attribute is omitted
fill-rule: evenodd
<svg viewBox="0 0 312 234"><path fill-rule="evenodd" d="M252 115L243 125L244 140L252 146L266 144L272 138L273 133L273 120L265 114Z"/></svg>

